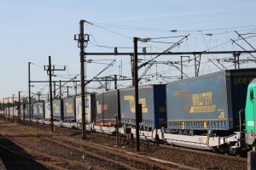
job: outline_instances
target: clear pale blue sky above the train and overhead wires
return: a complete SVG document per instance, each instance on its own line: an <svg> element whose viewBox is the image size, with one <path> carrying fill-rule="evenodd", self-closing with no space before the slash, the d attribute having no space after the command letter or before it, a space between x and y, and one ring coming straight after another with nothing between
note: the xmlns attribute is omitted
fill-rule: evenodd
<svg viewBox="0 0 256 170"><path fill-rule="evenodd" d="M73 34L79 33L81 19L89 20L96 25L86 25L84 29L98 44L132 47L132 37L170 36L170 32L167 31L175 29L181 31L176 35L185 35L197 30L241 26L254 26L244 29L247 29L247 32L255 31L255 7L254 0L0 0L0 97L18 94L19 90L25 91L26 94L28 61L35 64L32 65L32 80L47 80L42 66L47 64L49 55L53 57L55 65L68 65L68 72L58 74L70 74L71 77L79 74L79 48L77 42L73 41ZM108 24L112 27L107 27ZM124 29L124 26L151 30L139 31L131 27ZM122 35L106 31L106 28ZM243 31L242 28L238 30ZM226 31L226 33L212 39L205 37L203 42L201 32L196 32L197 34L192 34L189 41L184 42L183 46L176 50L206 50L206 46L212 48L215 44L229 40L230 37L236 38L234 33L227 33L233 30L214 31L218 33ZM203 33L209 32L212 33L212 31ZM253 45L255 45L254 40L250 40ZM88 52L113 51L112 48L96 48L93 46L96 42L92 39L90 42L86 49ZM242 44L246 47L246 44ZM167 46L154 44L150 49L161 51L165 47ZM234 48L239 49L229 43L216 49L233 50ZM124 49L124 51L131 50ZM112 72L106 72L105 76L119 72L115 68L120 65L120 60L119 57ZM123 64L125 63L129 66L129 59L124 59ZM129 76L128 66L126 68L124 66L123 74ZM104 65L89 65L88 77L93 77L103 67ZM42 88L40 85L38 87ZM36 92L37 88L33 88L33 91Z"/></svg>

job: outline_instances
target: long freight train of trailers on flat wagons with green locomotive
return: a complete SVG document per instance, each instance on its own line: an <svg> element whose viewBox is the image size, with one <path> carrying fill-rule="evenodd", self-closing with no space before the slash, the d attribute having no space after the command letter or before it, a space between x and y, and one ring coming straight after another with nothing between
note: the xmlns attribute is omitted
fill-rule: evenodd
<svg viewBox="0 0 256 170"><path fill-rule="evenodd" d="M239 153L255 144L256 69L226 70L139 88L140 139ZM21 119L29 118L23 105ZM49 102L31 105L32 121L50 123ZM55 126L81 128L81 98L53 101ZM135 92L123 88L85 96L86 127L135 138ZM17 111L14 111L17 115ZM12 116L6 108L5 116Z"/></svg>

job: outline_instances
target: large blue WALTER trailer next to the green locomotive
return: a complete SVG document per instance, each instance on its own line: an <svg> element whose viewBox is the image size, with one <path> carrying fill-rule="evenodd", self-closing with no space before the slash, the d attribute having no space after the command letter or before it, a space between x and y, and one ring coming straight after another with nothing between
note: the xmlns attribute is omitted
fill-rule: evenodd
<svg viewBox="0 0 256 170"><path fill-rule="evenodd" d="M168 83L167 127L179 133L181 129L185 129L183 133L239 130L244 122L239 113L245 108L247 86L254 77L256 69L226 70Z"/></svg>

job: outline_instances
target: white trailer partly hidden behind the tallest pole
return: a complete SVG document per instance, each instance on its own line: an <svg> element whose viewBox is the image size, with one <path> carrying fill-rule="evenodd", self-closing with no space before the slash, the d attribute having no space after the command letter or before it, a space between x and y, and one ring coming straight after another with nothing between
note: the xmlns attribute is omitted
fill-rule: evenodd
<svg viewBox="0 0 256 170"><path fill-rule="evenodd" d="M76 122L82 123L81 96L76 97ZM96 95L85 95L85 122L96 122Z"/></svg>

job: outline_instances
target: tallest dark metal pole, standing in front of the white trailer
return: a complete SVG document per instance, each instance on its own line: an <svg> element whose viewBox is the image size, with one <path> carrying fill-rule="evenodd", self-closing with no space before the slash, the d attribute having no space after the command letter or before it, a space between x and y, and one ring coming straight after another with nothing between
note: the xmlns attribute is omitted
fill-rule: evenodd
<svg viewBox="0 0 256 170"><path fill-rule="evenodd" d="M84 83L84 22L80 20L80 33L79 33L79 45L80 45L80 79L81 79L81 102L82 102L82 139L86 139L86 126L85 126L85 83Z"/></svg>

